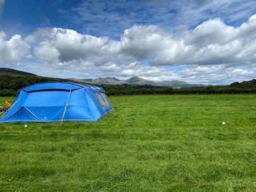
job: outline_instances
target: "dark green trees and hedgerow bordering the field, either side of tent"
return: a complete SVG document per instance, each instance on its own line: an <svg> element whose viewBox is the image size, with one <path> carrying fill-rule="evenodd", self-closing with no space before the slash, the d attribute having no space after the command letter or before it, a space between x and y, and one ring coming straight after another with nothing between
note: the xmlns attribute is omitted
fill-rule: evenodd
<svg viewBox="0 0 256 192"><path fill-rule="evenodd" d="M39 82L68 82L60 78L45 78L33 75L0 75L0 96L15 96L23 87ZM256 93L256 80L233 82L226 86L206 87L155 87L152 85L101 85L107 95L151 95L151 94L237 94Z"/></svg>

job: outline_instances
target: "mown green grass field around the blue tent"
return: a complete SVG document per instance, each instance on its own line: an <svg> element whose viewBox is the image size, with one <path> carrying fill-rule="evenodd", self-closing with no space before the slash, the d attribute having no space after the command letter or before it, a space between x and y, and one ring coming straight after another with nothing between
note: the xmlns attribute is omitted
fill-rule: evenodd
<svg viewBox="0 0 256 192"><path fill-rule="evenodd" d="M256 95L110 100L98 123L0 124L0 191L256 191Z"/></svg>

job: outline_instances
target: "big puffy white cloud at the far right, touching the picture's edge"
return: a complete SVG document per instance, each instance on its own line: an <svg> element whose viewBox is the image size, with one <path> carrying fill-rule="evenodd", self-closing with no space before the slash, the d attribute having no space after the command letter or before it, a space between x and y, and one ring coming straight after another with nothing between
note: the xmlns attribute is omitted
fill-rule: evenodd
<svg viewBox="0 0 256 192"><path fill-rule="evenodd" d="M155 65L198 64L214 65L224 63L255 63L256 21L234 28L215 18L201 23L186 36L178 37L175 46L166 48L157 55Z"/></svg>

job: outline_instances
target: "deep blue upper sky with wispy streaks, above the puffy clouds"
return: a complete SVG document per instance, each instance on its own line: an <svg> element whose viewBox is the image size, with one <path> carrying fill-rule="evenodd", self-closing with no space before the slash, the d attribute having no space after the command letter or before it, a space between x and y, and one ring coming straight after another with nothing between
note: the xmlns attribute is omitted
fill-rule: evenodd
<svg viewBox="0 0 256 192"><path fill-rule="evenodd" d="M65 1L6 0L1 28L9 35L28 34L35 28L70 28L92 36L120 38L134 25L157 25L170 31L191 29L209 18L239 26L255 14L255 1ZM195 10L192 10L195 9Z"/></svg>

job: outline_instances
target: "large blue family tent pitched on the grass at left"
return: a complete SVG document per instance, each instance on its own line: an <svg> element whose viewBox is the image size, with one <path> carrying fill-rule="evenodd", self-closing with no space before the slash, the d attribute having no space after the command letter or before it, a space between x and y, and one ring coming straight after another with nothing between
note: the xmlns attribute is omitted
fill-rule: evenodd
<svg viewBox="0 0 256 192"><path fill-rule="evenodd" d="M0 122L94 122L112 110L101 87L46 82L23 88Z"/></svg>

